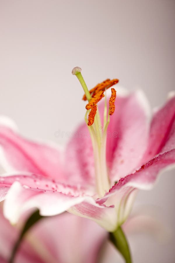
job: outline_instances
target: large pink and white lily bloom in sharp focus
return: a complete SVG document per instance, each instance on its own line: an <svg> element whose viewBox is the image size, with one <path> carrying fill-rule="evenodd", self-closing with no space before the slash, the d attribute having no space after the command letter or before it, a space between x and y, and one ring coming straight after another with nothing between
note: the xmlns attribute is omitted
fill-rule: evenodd
<svg viewBox="0 0 175 263"><path fill-rule="evenodd" d="M24 139L11 122L1 121L0 160L8 172L0 178L4 215L16 223L32 207L43 216L68 211L113 232L127 219L138 189L151 189L160 173L174 167L175 96L151 119L141 91L116 88L115 94L112 88L108 100L106 89L117 79L88 91L81 69L73 74L88 104L64 153Z"/></svg>

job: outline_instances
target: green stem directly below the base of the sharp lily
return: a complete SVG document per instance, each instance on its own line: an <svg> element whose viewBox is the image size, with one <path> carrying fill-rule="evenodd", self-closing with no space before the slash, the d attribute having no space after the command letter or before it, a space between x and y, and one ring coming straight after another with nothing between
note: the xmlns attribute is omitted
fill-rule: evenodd
<svg viewBox="0 0 175 263"><path fill-rule="evenodd" d="M109 239L122 254L126 263L132 263L129 245L124 232L119 226L113 233L109 233Z"/></svg>

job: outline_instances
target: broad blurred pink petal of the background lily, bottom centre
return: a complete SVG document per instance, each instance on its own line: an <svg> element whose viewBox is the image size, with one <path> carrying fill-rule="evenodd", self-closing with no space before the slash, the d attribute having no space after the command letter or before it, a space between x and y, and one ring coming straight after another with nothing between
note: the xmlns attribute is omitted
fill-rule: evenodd
<svg viewBox="0 0 175 263"><path fill-rule="evenodd" d="M59 263L97 262L99 248L107 237L92 220L70 213L44 219L33 235Z"/></svg>

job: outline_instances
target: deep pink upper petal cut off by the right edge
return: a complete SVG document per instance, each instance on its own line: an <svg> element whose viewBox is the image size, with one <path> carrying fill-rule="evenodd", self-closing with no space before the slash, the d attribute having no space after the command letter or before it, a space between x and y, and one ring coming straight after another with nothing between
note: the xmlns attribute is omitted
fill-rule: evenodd
<svg viewBox="0 0 175 263"><path fill-rule="evenodd" d="M175 148L175 96L172 96L153 116L148 147L142 163L173 148Z"/></svg>

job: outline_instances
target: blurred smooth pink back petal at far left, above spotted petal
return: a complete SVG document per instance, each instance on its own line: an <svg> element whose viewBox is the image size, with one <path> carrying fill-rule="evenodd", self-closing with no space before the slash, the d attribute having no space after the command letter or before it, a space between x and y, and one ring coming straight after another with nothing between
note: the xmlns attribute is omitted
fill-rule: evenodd
<svg viewBox="0 0 175 263"><path fill-rule="evenodd" d="M0 146L0 163L2 166L6 164L4 169L7 169L7 172L15 169L64 181L63 153L56 148L24 139L2 124Z"/></svg>

